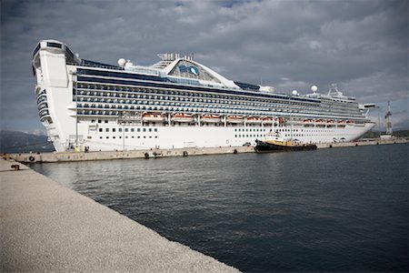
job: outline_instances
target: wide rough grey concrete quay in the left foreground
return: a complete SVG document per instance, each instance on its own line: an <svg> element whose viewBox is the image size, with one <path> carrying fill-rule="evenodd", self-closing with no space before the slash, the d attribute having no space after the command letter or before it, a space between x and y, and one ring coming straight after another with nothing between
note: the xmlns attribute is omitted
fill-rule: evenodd
<svg viewBox="0 0 409 273"><path fill-rule="evenodd" d="M2 272L238 272L14 160L0 177Z"/></svg>

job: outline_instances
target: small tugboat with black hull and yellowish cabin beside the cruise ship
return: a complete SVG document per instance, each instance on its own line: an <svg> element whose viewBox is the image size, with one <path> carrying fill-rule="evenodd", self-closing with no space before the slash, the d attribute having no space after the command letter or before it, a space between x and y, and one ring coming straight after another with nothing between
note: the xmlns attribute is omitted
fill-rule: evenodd
<svg viewBox="0 0 409 273"><path fill-rule="evenodd" d="M268 134L265 141L255 139L255 143L254 149L257 153L316 150L316 145L314 144L302 144L295 140L284 140L278 131Z"/></svg>

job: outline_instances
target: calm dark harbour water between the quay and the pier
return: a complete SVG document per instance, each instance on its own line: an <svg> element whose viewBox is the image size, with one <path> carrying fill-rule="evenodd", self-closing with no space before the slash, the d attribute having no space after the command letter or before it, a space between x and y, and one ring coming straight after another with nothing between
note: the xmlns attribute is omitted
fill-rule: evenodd
<svg viewBox="0 0 409 273"><path fill-rule="evenodd" d="M32 167L243 271L409 268L409 145Z"/></svg>

